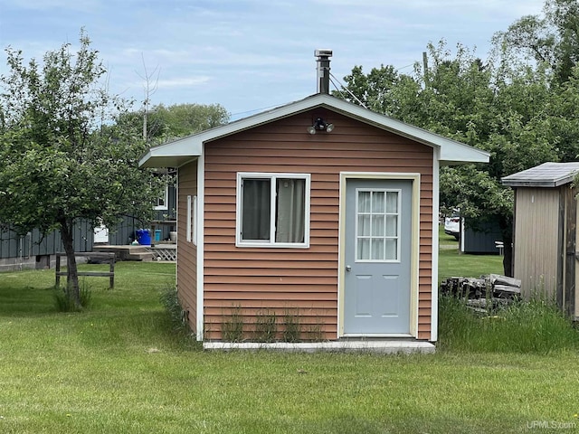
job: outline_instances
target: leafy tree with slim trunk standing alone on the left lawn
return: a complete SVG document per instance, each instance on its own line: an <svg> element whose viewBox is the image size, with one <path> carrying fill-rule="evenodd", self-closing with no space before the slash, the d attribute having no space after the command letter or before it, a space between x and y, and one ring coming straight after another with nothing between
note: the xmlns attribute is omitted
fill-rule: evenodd
<svg viewBox="0 0 579 434"><path fill-rule="evenodd" d="M106 70L84 31L80 48L46 52L42 67L6 49L0 77L0 222L18 231L61 232L66 293L80 307L76 222L109 227L121 215L147 217L157 182L138 169L147 145L122 122L129 104L100 84Z"/></svg>

